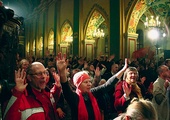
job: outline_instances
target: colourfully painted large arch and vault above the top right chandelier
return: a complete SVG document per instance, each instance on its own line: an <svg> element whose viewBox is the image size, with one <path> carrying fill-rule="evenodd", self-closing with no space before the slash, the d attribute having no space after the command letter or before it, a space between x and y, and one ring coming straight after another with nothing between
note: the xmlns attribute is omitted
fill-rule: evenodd
<svg viewBox="0 0 170 120"><path fill-rule="evenodd" d="M128 33L135 33L139 20L159 16L163 25L170 27L170 0L138 0L131 14Z"/></svg>

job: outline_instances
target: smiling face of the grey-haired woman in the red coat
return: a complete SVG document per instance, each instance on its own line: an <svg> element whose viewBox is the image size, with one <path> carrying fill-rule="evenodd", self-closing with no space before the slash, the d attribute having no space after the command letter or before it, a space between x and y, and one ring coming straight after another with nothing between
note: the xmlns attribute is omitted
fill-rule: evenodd
<svg viewBox="0 0 170 120"><path fill-rule="evenodd" d="M127 72L126 82L128 84L134 85L136 84L137 78L138 78L137 71L129 71Z"/></svg>

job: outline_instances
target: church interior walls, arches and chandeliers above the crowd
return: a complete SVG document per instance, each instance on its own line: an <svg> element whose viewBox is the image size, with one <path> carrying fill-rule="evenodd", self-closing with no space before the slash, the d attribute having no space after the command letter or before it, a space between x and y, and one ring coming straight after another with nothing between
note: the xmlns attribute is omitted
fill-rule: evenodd
<svg viewBox="0 0 170 120"><path fill-rule="evenodd" d="M169 28L170 0L0 0L0 93L17 55L158 61L170 58Z"/></svg>

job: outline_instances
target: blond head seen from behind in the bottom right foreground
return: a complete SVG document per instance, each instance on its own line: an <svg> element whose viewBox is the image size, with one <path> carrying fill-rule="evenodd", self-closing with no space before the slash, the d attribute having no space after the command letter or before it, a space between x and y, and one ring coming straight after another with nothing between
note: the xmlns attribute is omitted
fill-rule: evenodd
<svg viewBox="0 0 170 120"><path fill-rule="evenodd" d="M121 120L158 120L158 117L151 101L135 99L122 114Z"/></svg>

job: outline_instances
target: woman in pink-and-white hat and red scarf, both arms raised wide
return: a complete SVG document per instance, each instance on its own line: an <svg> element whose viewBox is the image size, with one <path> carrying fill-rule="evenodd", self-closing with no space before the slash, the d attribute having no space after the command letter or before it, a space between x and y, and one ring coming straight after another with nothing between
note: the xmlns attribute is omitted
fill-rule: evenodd
<svg viewBox="0 0 170 120"><path fill-rule="evenodd" d="M101 96L114 88L122 74L127 68L127 59L125 66L117 74L112 76L105 84L92 88L90 76L84 72L77 72L73 77L73 83L76 86L76 92L69 87L66 77L65 57L59 53L57 58L57 69L59 70L63 94L70 105L73 120L101 120L101 113L97 100Z"/></svg>

